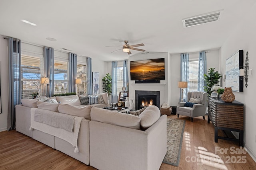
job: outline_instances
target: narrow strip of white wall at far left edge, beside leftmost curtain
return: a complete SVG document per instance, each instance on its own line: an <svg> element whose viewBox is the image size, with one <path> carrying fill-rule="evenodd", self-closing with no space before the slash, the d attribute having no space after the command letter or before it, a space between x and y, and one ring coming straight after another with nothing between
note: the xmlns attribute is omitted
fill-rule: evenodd
<svg viewBox="0 0 256 170"><path fill-rule="evenodd" d="M0 131L7 130L7 115L8 115L8 40L0 35L0 78L1 78L1 106L0 113Z"/></svg>

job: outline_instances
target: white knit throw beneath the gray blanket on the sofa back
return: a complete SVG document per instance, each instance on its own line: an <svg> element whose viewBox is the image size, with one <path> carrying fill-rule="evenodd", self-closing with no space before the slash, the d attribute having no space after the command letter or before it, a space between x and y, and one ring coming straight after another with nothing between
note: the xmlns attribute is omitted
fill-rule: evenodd
<svg viewBox="0 0 256 170"><path fill-rule="evenodd" d="M44 133L48 133L52 136L63 139L64 141L67 141L73 147L75 147L75 150L74 150L75 153L79 152L78 146L77 146L78 132L79 132L79 129L80 129L81 121L82 121L82 119L85 119L85 118L84 117L75 117L75 119L74 119L74 130L73 130L73 132L69 132L69 131L66 131L65 129L60 129L60 128L57 128L57 127L53 127L53 126L50 126L50 125L46 125L44 123L34 121L34 115L35 115L35 110L36 109L37 108L32 108L31 111L30 111L30 113L31 113L30 130L36 129L38 131L42 131Z"/></svg>

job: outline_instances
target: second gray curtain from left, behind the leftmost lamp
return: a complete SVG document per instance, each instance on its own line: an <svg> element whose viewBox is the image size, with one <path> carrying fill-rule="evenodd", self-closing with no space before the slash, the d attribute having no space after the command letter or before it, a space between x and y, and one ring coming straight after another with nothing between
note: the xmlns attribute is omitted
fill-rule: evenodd
<svg viewBox="0 0 256 170"><path fill-rule="evenodd" d="M43 47L44 52L44 76L49 78L50 84L46 84L46 96L52 97L54 93L54 49Z"/></svg>

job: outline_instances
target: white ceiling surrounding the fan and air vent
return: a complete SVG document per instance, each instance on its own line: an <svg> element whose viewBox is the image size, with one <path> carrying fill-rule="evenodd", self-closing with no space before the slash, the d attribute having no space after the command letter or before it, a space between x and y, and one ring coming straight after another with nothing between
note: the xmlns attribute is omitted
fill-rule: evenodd
<svg viewBox="0 0 256 170"><path fill-rule="evenodd" d="M146 52L189 53L220 48L253 4L255 0L0 0L0 35L103 61L142 53L111 53L118 48L105 47L121 47L124 40L144 43L137 48ZM217 10L224 10L220 21L182 25L184 18Z"/></svg>

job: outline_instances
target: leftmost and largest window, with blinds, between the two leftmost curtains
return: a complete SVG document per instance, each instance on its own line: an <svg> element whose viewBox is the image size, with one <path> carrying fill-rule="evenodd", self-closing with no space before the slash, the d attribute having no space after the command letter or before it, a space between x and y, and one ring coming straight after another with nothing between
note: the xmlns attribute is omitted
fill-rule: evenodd
<svg viewBox="0 0 256 170"><path fill-rule="evenodd" d="M38 92L40 95L43 94L43 90L40 87L42 73L42 57L21 56L21 98L32 98L32 92Z"/></svg>

